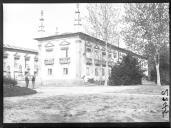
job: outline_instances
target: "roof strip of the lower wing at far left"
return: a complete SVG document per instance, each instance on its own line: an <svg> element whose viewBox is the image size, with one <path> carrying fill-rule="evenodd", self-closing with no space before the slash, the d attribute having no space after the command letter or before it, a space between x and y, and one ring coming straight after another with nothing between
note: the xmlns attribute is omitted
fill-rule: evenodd
<svg viewBox="0 0 171 128"><path fill-rule="evenodd" d="M26 52L26 53L32 53L32 54L38 54L37 50L29 49L29 48L22 48L22 47L16 47L9 44L3 44L3 49L8 49L12 51L20 51L20 52Z"/></svg>

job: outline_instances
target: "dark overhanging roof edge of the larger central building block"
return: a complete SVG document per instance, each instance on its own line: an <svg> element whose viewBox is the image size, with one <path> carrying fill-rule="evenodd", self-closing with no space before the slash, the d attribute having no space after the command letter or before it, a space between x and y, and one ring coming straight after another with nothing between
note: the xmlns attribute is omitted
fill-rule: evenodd
<svg viewBox="0 0 171 128"><path fill-rule="evenodd" d="M103 46L106 45L105 41L97 39L97 38L95 38L93 36L90 36L90 35L82 33L82 32L63 33L63 34L60 34L60 35L47 36L47 37L42 37L42 38L35 38L35 40L37 40L37 41L46 41L46 40L68 38L68 37L75 37L75 36L79 36L83 40L89 40L89 41L92 41L92 42L99 43L100 45L103 45ZM116 49L116 50L121 51L123 53L127 53L127 54L129 53L129 54L131 54L133 56L136 56L136 57L139 57L139 58L142 58L142 59L147 59L144 56L138 55L136 53L133 53L132 51L129 51L129 50L126 50L126 49L123 49L123 48L119 48L119 47L117 47L115 45L112 45L112 44L109 44L109 43L107 43L107 45L108 45L108 47L111 47L112 49Z"/></svg>

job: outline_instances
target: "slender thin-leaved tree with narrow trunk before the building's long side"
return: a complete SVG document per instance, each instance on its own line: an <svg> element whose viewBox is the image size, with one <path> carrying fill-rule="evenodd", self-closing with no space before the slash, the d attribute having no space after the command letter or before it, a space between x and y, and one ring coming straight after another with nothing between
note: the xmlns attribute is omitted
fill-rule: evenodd
<svg viewBox="0 0 171 128"><path fill-rule="evenodd" d="M106 80L108 80L108 51L107 43L116 42L116 26L118 24L118 12L111 4L89 4L88 23L90 26L88 33L106 42ZM115 40L115 41L114 41Z"/></svg>

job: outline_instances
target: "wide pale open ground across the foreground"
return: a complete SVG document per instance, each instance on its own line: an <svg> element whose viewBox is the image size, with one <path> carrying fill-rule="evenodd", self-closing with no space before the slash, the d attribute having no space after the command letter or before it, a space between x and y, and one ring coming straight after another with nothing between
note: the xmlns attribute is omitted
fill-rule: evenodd
<svg viewBox="0 0 171 128"><path fill-rule="evenodd" d="M168 122L169 114L162 116L161 91L166 88L37 88L34 95L4 98L4 123Z"/></svg>

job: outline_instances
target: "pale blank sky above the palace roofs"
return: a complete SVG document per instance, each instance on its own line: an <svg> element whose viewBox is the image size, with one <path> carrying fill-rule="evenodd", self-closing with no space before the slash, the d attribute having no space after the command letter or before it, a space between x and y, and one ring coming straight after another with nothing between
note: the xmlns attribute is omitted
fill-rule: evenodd
<svg viewBox="0 0 171 128"><path fill-rule="evenodd" d="M86 3L81 3L80 12L82 23L87 16ZM115 7L123 9L123 4L116 3ZM76 3L58 4L3 4L3 36L4 44L24 48L37 49L38 26L40 13L44 11L45 35L75 32L74 19ZM81 29L85 32L84 27ZM121 41L121 47L125 47Z"/></svg>

